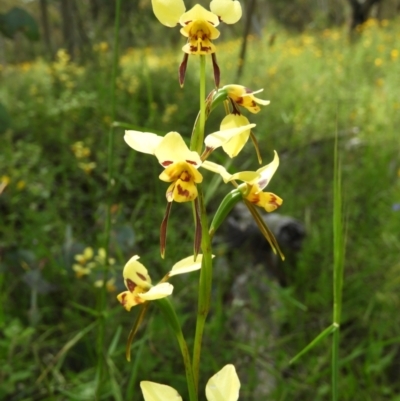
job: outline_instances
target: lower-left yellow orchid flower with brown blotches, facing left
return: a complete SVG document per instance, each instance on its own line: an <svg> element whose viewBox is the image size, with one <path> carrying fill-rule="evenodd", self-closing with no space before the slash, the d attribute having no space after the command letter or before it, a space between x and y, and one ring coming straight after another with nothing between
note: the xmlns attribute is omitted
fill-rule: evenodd
<svg viewBox="0 0 400 401"><path fill-rule="evenodd" d="M153 286L147 269L138 262L138 259L139 256L135 255L125 265L123 277L128 291L117 295L118 301L127 311L144 302L165 298L171 295L174 289L172 284L165 282ZM166 278L199 270L201 260L202 255L198 255L196 261L194 261L193 256L182 259L172 267Z"/></svg>

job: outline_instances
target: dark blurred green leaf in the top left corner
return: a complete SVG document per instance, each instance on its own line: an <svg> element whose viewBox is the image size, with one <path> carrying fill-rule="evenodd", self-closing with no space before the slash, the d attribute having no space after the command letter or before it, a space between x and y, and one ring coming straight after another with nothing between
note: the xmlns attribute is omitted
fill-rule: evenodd
<svg viewBox="0 0 400 401"><path fill-rule="evenodd" d="M0 14L0 32L9 39L13 39L17 32L22 32L32 41L40 38L35 19L19 7L13 7L6 14Z"/></svg>

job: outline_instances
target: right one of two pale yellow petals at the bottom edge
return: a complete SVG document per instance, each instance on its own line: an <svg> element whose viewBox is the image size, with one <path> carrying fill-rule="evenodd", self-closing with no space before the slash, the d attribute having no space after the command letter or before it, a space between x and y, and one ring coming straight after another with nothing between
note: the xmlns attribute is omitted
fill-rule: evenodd
<svg viewBox="0 0 400 401"><path fill-rule="evenodd" d="M239 389L235 367L226 365L207 382L206 397L208 401L237 401Z"/></svg>

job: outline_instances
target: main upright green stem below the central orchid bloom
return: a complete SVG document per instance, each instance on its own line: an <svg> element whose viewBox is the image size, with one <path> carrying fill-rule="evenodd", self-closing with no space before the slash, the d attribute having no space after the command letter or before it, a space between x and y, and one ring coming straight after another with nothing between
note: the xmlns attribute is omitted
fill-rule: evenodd
<svg viewBox="0 0 400 401"><path fill-rule="evenodd" d="M210 298L211 298L211 287L212 287L211 238L208 232L207 214L205 210L204 194L201 185L198 186L198 197L199 197L201 226L202 226L201 249L203 252L203 260L200 269L196 334L193 348L193 375L196 388L198 388L199 384L201 343L203 338L205 322L207 319L208 312L210 310Z"/></svg>

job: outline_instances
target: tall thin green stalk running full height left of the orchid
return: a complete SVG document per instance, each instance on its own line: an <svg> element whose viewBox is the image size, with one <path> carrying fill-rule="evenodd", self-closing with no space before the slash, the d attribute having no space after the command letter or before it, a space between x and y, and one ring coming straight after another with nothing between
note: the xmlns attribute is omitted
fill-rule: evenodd
<svg viewBox="0 0 400 401"><path fill-rule="evenodd" d="M115 88L116 88L116 78L118 71L118 47L119 47L119 26L120 26L120 14L121 14L121 1L117 0L115 4L115 23L114 23L114 49L113 49L113 65L112 65L112 77L111 77L111 121L115 120L115 110L116 110L116 98L115 98ZM113 179L113 158L114 158L114 125L111 124L108 133L108 149L107 149L107 217L106 225L104 230L104 248L106 250L106 260L103 275L103 287L100 290L99 299L99 331L97 336L97 372L96 372L96 399L100 397L100 389L103 383L104 366L105 360L103 355L103 345L105 337L105 327L106 327L106 314L103 313L106 310L106 281L109 273L109 244L111 236L111 206L112 206L112 187L114 184Z"/></svg>

